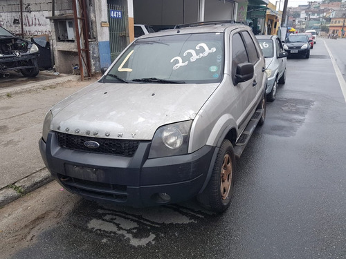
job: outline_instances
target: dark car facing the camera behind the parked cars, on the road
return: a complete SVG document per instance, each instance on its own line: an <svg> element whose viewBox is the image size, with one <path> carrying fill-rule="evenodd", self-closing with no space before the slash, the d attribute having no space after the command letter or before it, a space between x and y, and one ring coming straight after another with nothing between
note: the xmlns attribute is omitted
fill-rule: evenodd
<svg viewBox="0 0 346 259"><path fill-rule="evenodd" d="M291 34L286 38L284 50L289 53L289 57L310 57L311 40L305 33Z"/></svg>

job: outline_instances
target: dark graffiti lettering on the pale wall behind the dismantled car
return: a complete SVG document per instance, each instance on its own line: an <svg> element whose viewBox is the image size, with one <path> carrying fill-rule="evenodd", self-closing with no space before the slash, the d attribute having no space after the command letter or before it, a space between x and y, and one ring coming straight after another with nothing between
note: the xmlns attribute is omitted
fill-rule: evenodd
<svg viewBox="0 0 346 259"><path fill-rule="evenodd" d="M51 23L49 23L49 19L46 19L49 15L48 11L24 12L24 36L51 35ZM17 35L21 34L20 20L21 17L19 12L2 12L0 14L0 26Z"/></svg>

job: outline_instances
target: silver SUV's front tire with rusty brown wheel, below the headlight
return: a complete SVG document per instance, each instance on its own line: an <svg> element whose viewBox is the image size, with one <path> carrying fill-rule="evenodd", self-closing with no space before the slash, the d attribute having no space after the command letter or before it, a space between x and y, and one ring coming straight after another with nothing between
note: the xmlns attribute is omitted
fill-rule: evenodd
<svg viewBox="0 0 346 259"><path fill-rule="evenodd" d="M233 145L229 140L224 140L217 153L208 185L197 196L201 206L219 213L226 211L233 195L234 170L235 152Z"/></svg>

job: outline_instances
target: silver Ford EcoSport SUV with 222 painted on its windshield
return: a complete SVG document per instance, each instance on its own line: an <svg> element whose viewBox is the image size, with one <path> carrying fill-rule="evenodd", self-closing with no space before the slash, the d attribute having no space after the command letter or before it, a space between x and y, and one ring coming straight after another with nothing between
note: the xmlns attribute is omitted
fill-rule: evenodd
<svg viewBox="0 0 346 259"><path fill-rule="evenodd" d="M144 35L100 81L48 111L39 148L65 189L147 207L230 204L235 159L266 115L251 28L194 23Z"/></svg>

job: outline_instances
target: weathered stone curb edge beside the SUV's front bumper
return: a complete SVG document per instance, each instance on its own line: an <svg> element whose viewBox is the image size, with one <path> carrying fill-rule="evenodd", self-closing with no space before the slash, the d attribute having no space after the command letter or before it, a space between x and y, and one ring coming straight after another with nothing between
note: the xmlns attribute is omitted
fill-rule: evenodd
<svg viewBox="0 0 346 259"><path fill-rule="evenodd" d="M21 198L54 180L48 169L44 168L0 190L0 207Z"/></svg>

